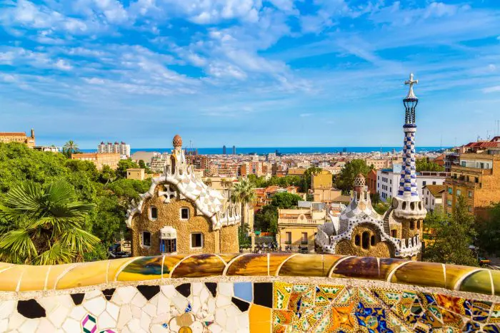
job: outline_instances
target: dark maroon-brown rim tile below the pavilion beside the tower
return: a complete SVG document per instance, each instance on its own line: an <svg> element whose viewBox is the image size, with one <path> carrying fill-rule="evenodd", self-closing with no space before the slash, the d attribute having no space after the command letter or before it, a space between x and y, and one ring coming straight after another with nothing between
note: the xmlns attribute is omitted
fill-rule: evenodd
<svg viewBox="0 0 500 333"><path fill-rule="evenodd" d="M376 257L350 257L339 262L331 277L355 277L358 279L379 279L379 262Z"/></svg>

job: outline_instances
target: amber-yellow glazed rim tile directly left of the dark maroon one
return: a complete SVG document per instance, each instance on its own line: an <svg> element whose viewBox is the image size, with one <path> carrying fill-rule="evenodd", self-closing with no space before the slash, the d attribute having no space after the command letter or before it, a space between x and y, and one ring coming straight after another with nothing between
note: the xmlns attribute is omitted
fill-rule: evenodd
<svg viewBox="0 0 500 333"><path fill-rule="evenodd" d="M326 277L328 271L324 272L323 256L321 255L296 255L281 266L279 270L281 277Z"/></svg>

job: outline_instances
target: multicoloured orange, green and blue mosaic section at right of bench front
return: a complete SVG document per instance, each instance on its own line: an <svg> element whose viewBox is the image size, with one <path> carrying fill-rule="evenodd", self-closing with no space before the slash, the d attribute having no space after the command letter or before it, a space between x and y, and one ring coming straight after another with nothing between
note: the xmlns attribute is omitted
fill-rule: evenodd
<svg viewBox="0 0 500 333"><path fill-rule="evenodd" d="M410 290L276 282L272 332L500 332L498 306Z"/></svg>

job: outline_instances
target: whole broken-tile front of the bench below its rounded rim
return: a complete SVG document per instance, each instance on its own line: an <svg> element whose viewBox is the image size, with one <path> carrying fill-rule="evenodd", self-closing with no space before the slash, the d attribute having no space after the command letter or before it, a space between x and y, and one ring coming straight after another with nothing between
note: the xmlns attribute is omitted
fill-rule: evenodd
<svg viewBox="0 0 500 333"><path fill-rule="evenodd" d="M500 297L327 280L138 285L83 294L81 302L75 294L0 301L0 332L500 332Z"/></svg>

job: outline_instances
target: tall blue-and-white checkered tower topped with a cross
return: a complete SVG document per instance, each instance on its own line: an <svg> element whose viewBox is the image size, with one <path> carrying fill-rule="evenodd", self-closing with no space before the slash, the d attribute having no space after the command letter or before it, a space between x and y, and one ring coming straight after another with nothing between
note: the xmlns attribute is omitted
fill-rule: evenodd
<svg viewBox="0 0 500 333"><path fill-rule="evenodd" d="M413 91L413 86L416 83L419 83L419 80L414 80L413 73L410 74L410 79L404 82L410 88L408 95L403 100L405 108L403 167L401 168L398 195L392 200L394 215L411 220L422 219L427 214L416 185L415 113L416 105L419 103L419 98L416 98Z"/></svg>

